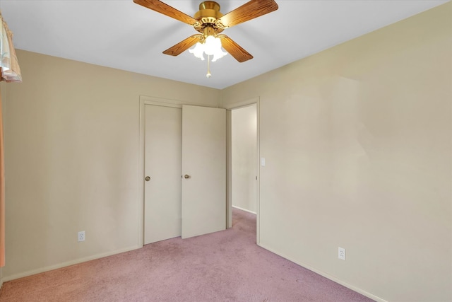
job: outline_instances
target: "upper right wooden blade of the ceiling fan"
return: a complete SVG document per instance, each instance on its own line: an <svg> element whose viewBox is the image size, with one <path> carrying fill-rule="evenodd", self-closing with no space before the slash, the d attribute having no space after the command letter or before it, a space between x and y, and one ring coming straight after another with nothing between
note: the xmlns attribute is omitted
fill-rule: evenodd
<svg viewBox="0 0 452 302"><path fill-rule="evenodd" d="M251 0L234 9L234 11L225 14L225 16L218 18L217 23L225 28L230 28L231 26L263 16L277 9L278 4L274 0Z"/></svg>

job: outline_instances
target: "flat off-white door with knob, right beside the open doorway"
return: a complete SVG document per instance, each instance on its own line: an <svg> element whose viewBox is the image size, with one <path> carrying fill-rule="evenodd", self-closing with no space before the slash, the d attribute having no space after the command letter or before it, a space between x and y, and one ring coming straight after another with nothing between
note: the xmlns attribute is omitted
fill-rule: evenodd
<svg viewBox="0 0 452 302"><path fill-rule="evenodd" d="M182 106L182 238L226 228L226 110Z"/></svg>

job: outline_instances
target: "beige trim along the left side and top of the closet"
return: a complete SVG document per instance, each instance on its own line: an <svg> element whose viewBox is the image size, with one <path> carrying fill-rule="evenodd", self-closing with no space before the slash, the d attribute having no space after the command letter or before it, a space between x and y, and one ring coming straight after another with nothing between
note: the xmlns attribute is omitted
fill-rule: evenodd
<svg viewBox="0 0 452 302"><path fill-rule="evenodd" d="M213 105L201 102L171 100L167 98L157 98L147 95L140 95L139 102L140 122L138 132L138 247L142 248L144 245L145 105L155 105L172 108L182 108L182 105L195 105L212 108L219 108L219 106L217 104Z"/></svg>

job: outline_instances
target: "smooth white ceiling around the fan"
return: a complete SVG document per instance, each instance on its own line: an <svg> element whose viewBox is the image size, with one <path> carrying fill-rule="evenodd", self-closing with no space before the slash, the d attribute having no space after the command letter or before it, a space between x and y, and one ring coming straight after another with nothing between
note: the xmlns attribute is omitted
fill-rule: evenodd
<svg viewBox="0 0 452 302"><path fill-rule="evenodd" d="M132 0L1 0L0 9L20 50L221 89L447 1L276 0L278 11L224 32L254 59L227 55L211 64L210 79L206 61L188 51L162 54L194 28ZM193 16L201 1L164 2ZM227 13L247 0L217 2Z"/></svg>

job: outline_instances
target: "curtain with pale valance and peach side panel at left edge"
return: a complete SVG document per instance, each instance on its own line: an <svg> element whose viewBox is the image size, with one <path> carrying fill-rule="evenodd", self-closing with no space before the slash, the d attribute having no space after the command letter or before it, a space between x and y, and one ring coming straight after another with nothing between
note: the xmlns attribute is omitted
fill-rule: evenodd
<svg viewBox="0 0 452 302"><path fill-rule="evenodd" d="M13 46L13 34L0 12L0 81L21 82L20 68ZM3 146L3 119L0 96L0 267L5 265L5 165Z"/></svg>

